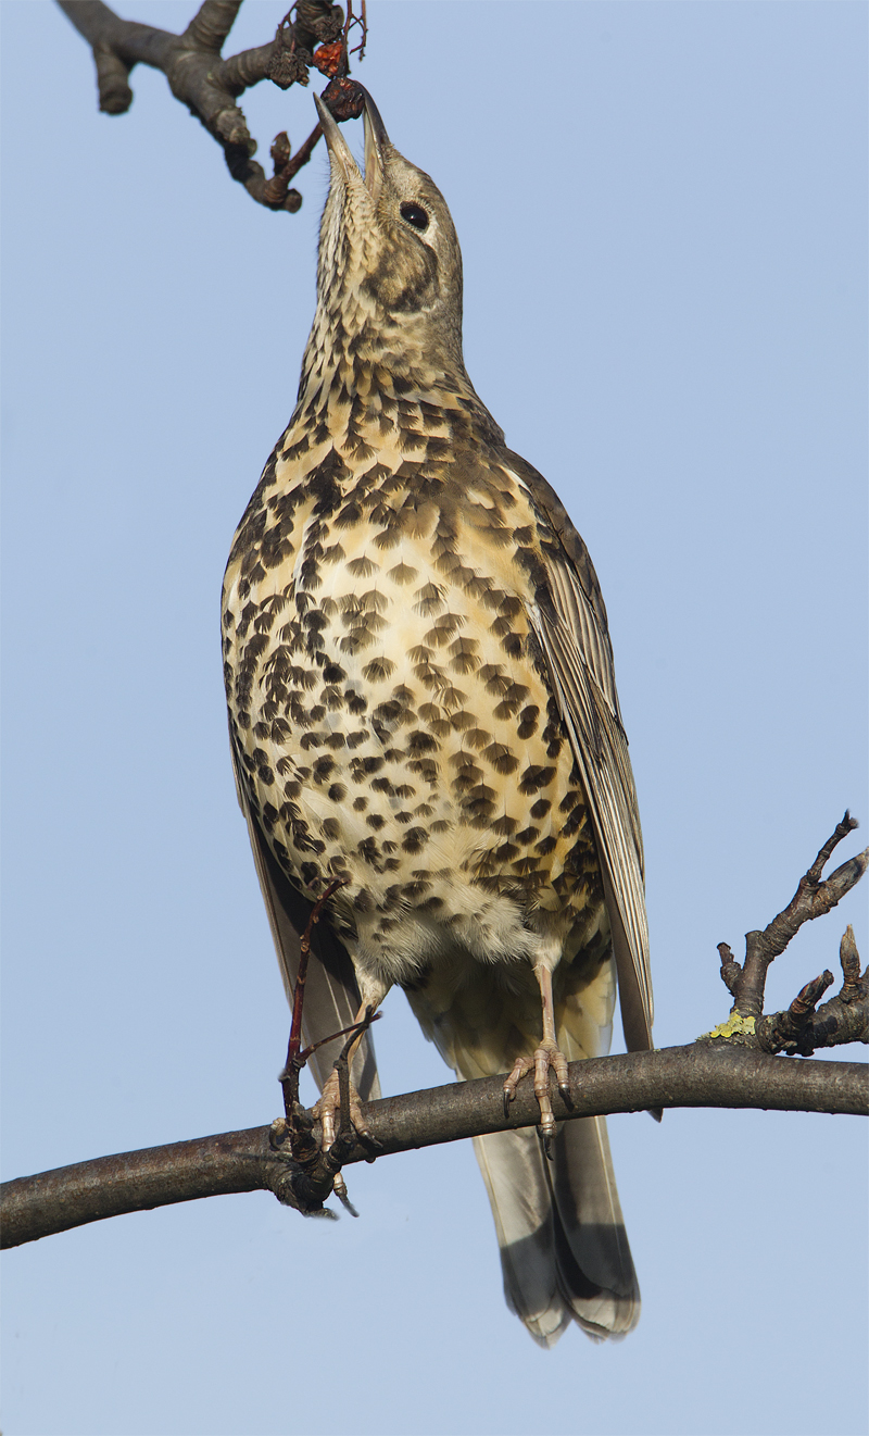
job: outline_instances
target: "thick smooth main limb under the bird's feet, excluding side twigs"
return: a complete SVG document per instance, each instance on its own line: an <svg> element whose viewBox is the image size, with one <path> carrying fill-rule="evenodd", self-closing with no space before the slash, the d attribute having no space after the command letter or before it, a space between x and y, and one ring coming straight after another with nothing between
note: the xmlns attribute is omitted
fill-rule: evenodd
<svg viewBox="0 0 869 1436"><path fill-rule="evenodd" d="M554 1087L559 1120L650 1107L761 1107L777 1111L869 1114L869 1070L859 1063L792 1063L734 1048L670 1047L655 1053L571 1063L571 1106ZM486 1132L529 1127L539 1120L531 1083L503 1113L503 1078L453 1083L432 1091L387 1097L366 1107L377 1156ZM191 1202L229 1192L274 1192L285 1205L307 1205L300 1167L272 1150L268 1127L225 1132L143 1152L98 1157L20 1178L0 1189L3 1245L17 1246L86 1222ZM346 1163L370 1160L353 1142ZM303 1180L304 1186L304 1180Z"/></svg>

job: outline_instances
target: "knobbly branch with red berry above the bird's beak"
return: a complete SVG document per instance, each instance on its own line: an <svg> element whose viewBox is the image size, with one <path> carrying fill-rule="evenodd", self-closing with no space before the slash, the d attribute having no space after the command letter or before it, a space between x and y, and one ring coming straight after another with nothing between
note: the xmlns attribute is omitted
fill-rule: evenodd
<svg viewBox="0 0 869 1436"><path fill-rule="evenodd" d="M248 131L237 99L264 79L281 89L294 83L307 85L308 72L314 66L336 76L323 95L336 119L358 113L347 98L353 82L346 79L346 32L353 23L351 6L347 7L344 24L343 10L330 0L298 0L294 6L295 23L287 14L268 45L242 50L224 60L221 49L241 3L242 0L204 0L186 30L174 34L136 20L122 20L102 0L57 0L93 50L102 111L122 115L129 109L133 101L129 75L135 65L162 70L175 98L188 106L222 146L232 178L258 204L295 213L301 205L301 195L298 190L290 190L288 182L311 158L321 134L320 126L315 126L293 159L290 141L285 135L278 136L284 142L281 158L280 162L275 158L274 178L267 180L262 165L254 159L257 141ZM341 36L344 39L338 43ZM327 43L315 49L318 40Z"/></svg>

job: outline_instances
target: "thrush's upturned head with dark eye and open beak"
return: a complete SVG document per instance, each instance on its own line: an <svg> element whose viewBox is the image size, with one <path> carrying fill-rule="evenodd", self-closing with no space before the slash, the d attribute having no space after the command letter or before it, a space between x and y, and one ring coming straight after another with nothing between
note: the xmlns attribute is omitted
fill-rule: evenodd
<svg viewBox="0 0 869 1436"><path fill-rule="evenodd" d="M379 356L394 342L399 352L462 366L462 251L450 213L429 175L393 146L374 101L363 95L364 175L315 98L331 165L318 309L360 358L369 348Z"/></svg>

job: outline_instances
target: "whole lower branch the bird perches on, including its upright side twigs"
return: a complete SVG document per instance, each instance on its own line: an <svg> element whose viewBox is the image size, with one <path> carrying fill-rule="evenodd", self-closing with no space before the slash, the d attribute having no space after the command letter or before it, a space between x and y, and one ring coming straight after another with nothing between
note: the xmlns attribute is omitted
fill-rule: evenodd
<svg viewBox="0 0 869 1436"><path fill-rule="evenodd" d="M740 1002L751 1008L757 1001L763 1002L769 964L784 951L802 923L829 912L859 882L869 853L849 859L822 882L830 853L855 827L856 821L846 813L800 879L784 912L763 933L747 935L750 956L744 968L736 962L730 948L720 943L721 976L736 995L727 1022L690 1047L571 1063L566 1097L558 1088L554 1091L555 1116L569 1122L663 1107L869 1114L866 1066L792 1063L773 1055L777 1051L806 1053L816 1047L869 1040L869 968L860 975L850 928L840 945L842 991L830 1002L815 1011L833 981L832 974L825 972L803 987L787 1012L756 1022L753 1014L746 1017L739 1011ZM145 1152L125 1152L7 1182L0 1188L0 1245L17 1246L122 1212L228 1192L270 1190L284 1205L313 1216L324 1212L323 1203L333 1188L348 1205L343 1180L336 1182L341 1166L412 1147L460 1142L488 1132L529 1127L539 1120L539 1104L531 1083L518 1088L515 1101L505 1113L503 1077L486 1077L369 1103L367 1132L366 1137L360 1137L348 1122L347 1044L338 1061L338 1067L341 1063L344 1067L340 1077L346 1088L341 1130L336 1144L323 1152L314 1114L295 1100L295 1077L305 1054L298 1053L294 1031L287 1070L281 1074L287 1114L271 1129L254 1127Z"/></svg>

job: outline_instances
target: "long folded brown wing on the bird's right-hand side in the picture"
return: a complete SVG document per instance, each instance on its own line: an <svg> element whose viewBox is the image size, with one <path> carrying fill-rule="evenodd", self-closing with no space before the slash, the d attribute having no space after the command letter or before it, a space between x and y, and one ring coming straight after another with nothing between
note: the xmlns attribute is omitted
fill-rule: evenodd
<svg viewBox="0 0 869 1436"><path fill-rule="evenodd" d="M607 610L588 550L555 491L518 455L511 454L509 468L542 520L546 582L529 617L591 806L625 1041L630 1051L645 1051L652 1045L652 992L642 833Z"/></svg>

